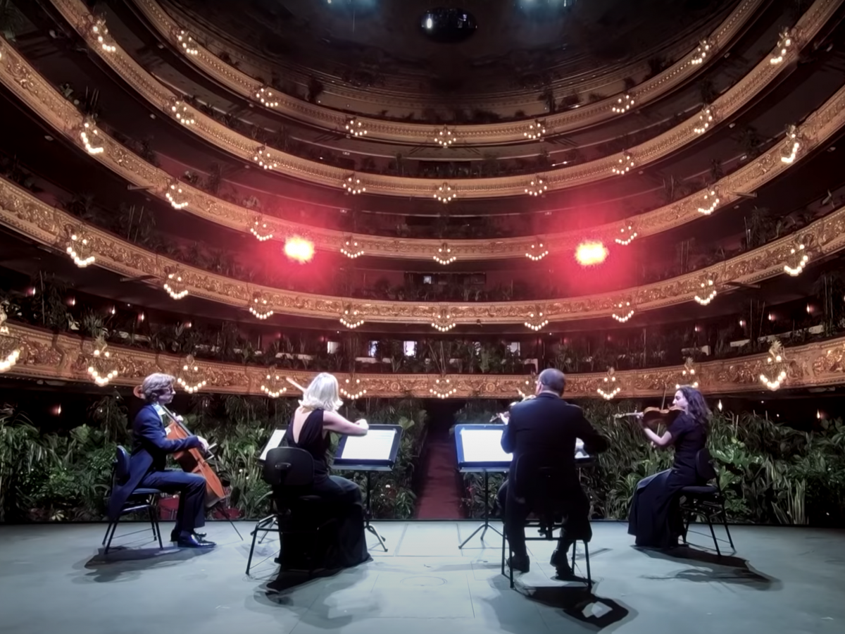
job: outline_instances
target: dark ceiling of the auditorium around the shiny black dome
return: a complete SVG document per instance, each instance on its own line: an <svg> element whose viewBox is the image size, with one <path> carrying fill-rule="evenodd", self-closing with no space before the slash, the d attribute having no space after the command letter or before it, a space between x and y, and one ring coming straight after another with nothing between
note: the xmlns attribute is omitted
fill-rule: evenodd
<svg viewBox="0 0 845 634"><path fill-rule="evenodd" d="M216 36L270 61L359 83L416 75L424 90L462 93L562 79L563 68L657 54L734 0L164 0ZM433 8L461 8L477 29L460 42L421 29ZM532 79L533 78L533 79ZM369 80L368 80L369 81ZM492 84L490 83L492 82Z"/></svg>

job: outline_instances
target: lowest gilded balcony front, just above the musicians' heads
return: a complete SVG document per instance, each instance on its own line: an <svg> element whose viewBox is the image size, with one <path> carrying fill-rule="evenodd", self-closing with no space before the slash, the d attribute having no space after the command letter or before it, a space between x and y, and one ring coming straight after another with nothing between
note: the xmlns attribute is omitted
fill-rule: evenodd
<svg viewBox="0 0 845 634"><path fill-rule="evenodd" d="M9 331L20 342L18 363L8 375L28 379L51 379L90 382L91 342L81 337L56 335L31 326L9 324ZM187 359L174 354L152 353L132 347L111 347L116 359L117 374L110 385L138 385L147 374L166 372L182 376ZM782 389L845 384L845 337L827 342L787 348L788 374ZM760 373L768 366L766 354L723 361L700 363L695 369L699 388L707 395L737 394L766 391L760 385ZM235 363L190 361L189 368L197 375L194 388L202 381L201 391L222 394L254 394L262 396L267 390L268 372L289 376L300 385L307 385L314 374L287 369L268 369L264 366L245 366ZM194 368L196 368L194 370ZM628 370L615 372L621 385L616 398L662 396L673 390L685 366ZM430 398L435 380L449 380L450 398L514 398L525 391L528 377L513 374L335 374L341 385L355 385L354 392L366 390L368 397ZM568 374L566 395L570 398L597 398L603 388L605 373ZM346 383L349 380L349 383ZM284 385L284 380L276 380ZM261 389L264 385L264 391ZM445 394L446 390L439 390ZM295 396L292 392L288 394Z"/></svg>

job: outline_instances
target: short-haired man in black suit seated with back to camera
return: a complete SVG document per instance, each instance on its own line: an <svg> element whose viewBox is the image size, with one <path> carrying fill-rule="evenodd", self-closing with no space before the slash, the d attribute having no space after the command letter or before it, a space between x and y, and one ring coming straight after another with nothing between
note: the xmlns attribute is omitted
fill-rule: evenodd
<svg viewBox="0 0 845 634"><path fill-rule="evenodd" d="M537 397L516 403L510 409L509 420L502 434L502 449L513 454L510 474L499 489L499 508L504 509L504 530L514 555L509 565L515 571L529 569L526 550L525 522L532 511L532 491L514 486L517 464L521 456L538 465L553 465L559 473L559 485L565 491L564 511L566 520L551 564L560 578L570 577L572 571L566 554L576 540L589 541L590 500L587 499L575 468L575 440L584 442L588 454L608 449L608 440L600 435L584 418L581 407L565 402L566 380L558 369L544 369L537 377ZM531 469L520 469L530 473ZM530 486L527 485L526 486Z"/></svg>

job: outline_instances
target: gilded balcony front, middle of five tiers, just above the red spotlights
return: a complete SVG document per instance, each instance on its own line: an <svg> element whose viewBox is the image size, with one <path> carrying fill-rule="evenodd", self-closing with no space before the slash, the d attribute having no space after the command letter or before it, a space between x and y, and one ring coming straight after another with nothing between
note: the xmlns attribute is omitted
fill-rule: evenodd
<svg viewBox="0 0 845 634"><path fill-rule="evenodd" d="M12 90L21 101L37 113L43 120L65 135L80 148L85 147L79 137L79 129L85 124L85 118L64 99L40 74L20 57L17 52L0 40L0 82ZM751 161L745 167L733 172L706 190L690 194L671 205L632 216L624 221L615 221L589 230L558 232L541 236L552 253L571 252L585 233L610 244L619 238L619 228L635 227L638 238L655 235L695 221L704 214L701 205L709 191L719 193L720 204L712 213L718 213L730 203L739 199L739 193L748 193L759 189L765 183L796 165L815 147L831 139L845 125L845 87L813 112L801 126L802 150L796 160L785 163L781 160L782 145L777 144L765 154ZM257 216L254 210L233 205L226 200L215 198L211 194L191 187L187 183L178 183L170 174L150 165L140 156L127 150L102 131L98 133L103 151L90 155L106 167L112 169L129 183L150 189L151 195L167 198L171 187L179 189L178 208L241 232L255 232L257 237L267 237L283 242L289 235L300 235L314 243L316 249L340 251L350 239L357 243L357 250L370 256L399 258L406 260L428 260L440 246L439 240L403 239L348 234L319 227L308 227L274 216ZM177 184L178 183L178 184ZM523 188L524 189L524 188ZM259 222L256 228L256 221ZM627 235L627 234L626 234ZM450 249L461 260L502 260L522 258L536 237L504 238L499 240L454 240Z"/></svg>

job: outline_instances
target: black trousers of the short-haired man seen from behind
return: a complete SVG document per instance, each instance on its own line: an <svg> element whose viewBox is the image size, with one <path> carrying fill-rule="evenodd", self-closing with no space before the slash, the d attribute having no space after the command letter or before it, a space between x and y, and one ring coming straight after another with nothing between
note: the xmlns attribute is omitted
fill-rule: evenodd
<svg viewBox="0 0 845 634"><path fill-rule="evenodd" d="M512 487L505 480L499 487L496 500L499 508L504 510L504 534L510 542L510 549L514 555L525 557L528 555L526 549L526 519L532 511L537 511L532 506L541 506L531 500L517 498ZM581 489L581 484L574 483L569 489L564 500L556 501L555 511L564 516L564 527L558 538L558 549L564 552L574 541L583 539L589 541L592 537L590 526L590 499Z"/></svg>

